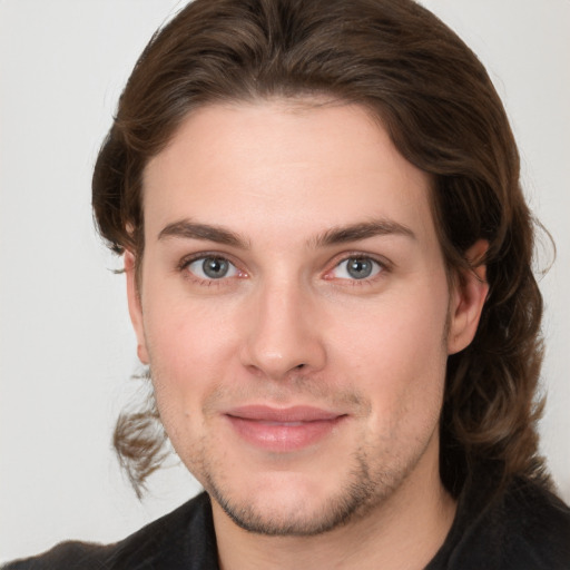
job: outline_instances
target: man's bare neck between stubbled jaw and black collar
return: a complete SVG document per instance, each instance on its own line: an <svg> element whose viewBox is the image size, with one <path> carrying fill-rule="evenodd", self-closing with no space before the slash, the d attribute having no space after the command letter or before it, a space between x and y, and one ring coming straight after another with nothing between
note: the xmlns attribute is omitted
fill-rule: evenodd
<svg viewBox="0 0 570 570"><path fill-rule="evenodd" d="M222 570L422 569L443 544L455 507L436 465L411 474L366 515L312 537L247 532L213 501Z"/></svg>

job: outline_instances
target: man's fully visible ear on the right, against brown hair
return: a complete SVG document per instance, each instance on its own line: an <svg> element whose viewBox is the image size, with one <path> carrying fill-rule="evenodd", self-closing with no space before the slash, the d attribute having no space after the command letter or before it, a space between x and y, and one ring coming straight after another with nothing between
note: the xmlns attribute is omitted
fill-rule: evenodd
<svg viewBox="0 0 570 570"><path fill-rule="evenodd" d="M450 303L448 354L462 351L475 336L489 293L487 267L480 263L488 248L489 242L485 239L479 239L472 245L465 252L465 257L473 268L461 271L455 276Z"/></svg>

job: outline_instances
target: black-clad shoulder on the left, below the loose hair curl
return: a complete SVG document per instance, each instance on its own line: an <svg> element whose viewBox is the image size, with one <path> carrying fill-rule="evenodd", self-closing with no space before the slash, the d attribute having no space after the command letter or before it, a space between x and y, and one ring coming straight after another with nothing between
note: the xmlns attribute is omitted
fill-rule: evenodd
<svg viewBox="0 0 570 570"><path fill-rule="evenodd" d="M212 508L202 493L115 544L63 542L2 570L215 569L216 560Z"/></svg>

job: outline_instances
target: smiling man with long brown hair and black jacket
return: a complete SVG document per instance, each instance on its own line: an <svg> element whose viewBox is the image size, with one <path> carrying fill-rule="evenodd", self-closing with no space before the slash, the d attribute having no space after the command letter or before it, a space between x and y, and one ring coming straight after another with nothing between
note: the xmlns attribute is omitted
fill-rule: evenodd
<svg viewBox="0 0 570 570"><path fill-rule="evenodd" d="M568 568L537 455L541 298L504 110L409 1L197 0L94 176L164 438L206 493L9 568Z"/></svg>

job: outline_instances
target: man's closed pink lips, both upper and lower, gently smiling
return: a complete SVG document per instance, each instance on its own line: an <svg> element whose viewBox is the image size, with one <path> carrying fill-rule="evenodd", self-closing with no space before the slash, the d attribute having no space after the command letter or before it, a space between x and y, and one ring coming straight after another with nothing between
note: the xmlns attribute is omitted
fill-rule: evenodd
<svg viewBox="0 0 570 570"><path fill-rule="evenodd" d="M313 406L247 405L225 413L239 438L262 450L293 452L330 435L346 414Z"/></svg>

